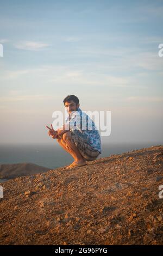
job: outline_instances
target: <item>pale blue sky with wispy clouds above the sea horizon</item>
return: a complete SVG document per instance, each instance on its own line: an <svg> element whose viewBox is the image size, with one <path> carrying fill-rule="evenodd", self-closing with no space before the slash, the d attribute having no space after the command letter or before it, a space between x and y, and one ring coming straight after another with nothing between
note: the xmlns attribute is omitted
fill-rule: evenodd
<svg viewBox="0 0 163 256"><path fill-rule="evenodd" d="M54 143L74 94L111 111L103 143L163 141L163 1L1 1L0 143Z"/></svg>

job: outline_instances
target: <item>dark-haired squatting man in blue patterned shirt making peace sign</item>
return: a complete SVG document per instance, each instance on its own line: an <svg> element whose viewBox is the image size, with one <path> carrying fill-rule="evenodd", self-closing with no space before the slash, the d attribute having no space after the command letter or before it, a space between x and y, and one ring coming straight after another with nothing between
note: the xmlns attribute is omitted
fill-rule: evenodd
<svg viewBox="0 0 163 256"><path fill-rule="evenodd" d="M93 120L79 108L77 96L68 95L63 102L68 118L57 131L52 125L52 128L47 126L48 134L56 138L60 146L73 157L74 161L67 169L84 166L86 161L93 161L102 153L101 137Z"/></svg>

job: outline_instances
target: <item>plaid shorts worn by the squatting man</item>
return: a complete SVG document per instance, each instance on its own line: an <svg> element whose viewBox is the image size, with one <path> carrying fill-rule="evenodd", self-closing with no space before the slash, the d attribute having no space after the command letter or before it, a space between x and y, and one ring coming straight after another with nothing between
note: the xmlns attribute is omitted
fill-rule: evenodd
<svg viewBox="0 0 163 256"><path fill-rule="evenodd" d="M77 133L71 132L71 136L74 144L78 148L80 154L83 156L85 161L93 161L96 160L98 155L101 154L99 151L92 149L91 145L87 143L85 138L82 136L78 136Z"/></svg>

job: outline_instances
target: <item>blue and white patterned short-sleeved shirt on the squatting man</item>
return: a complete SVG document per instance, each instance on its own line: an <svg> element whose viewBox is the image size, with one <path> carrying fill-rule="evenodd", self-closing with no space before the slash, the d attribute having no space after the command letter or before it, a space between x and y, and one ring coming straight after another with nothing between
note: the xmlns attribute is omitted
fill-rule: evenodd
<svg viewBox="0 0 163 256"><path fill-rule="evenodd" d="M91 145L92 149L102 153L101 137L93 120L82 109L71 113L65 121L65 130L78 133L78 136L85 138L86 142Z"/></svg>

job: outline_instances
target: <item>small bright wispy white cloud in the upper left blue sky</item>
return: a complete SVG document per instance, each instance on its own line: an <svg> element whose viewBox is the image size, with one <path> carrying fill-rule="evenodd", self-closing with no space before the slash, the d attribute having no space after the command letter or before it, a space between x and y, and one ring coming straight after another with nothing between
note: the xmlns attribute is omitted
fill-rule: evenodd
<svg viewBox="0 0 163 256"><path fill-rule="evenodd" d="M39 51L42 48L49 46L49 44L45 44L43 42L35 42L35 41L24 41L18 42L15 47L21 50L29 50L29 51Z"/></svg>

